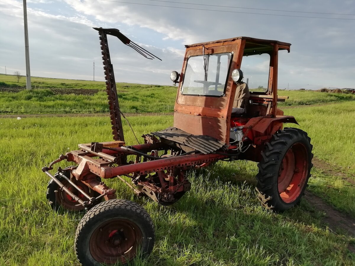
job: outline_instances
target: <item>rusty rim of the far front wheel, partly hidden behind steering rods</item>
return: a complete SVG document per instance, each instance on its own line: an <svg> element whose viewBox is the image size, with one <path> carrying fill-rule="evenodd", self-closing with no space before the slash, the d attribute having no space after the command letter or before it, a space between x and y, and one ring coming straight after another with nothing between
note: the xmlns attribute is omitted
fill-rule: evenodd
<svg viewBox="0 0 355 266"><path fill-rule="evenodd" d="M81 182L74 182L80 189L82 189L86 194L90 195L90 189L88 186ZM68 181L63 180L62 184L65 185L72 193L78 196L81 200L86 201L87 198L80 193L76 188L74 188ZM69 196L64 190L59 190L55 195L57 203L66 210L79 211L83 210L84 207L77 203L71 196ZM77 205L77 206L76 206Z"/></svg>

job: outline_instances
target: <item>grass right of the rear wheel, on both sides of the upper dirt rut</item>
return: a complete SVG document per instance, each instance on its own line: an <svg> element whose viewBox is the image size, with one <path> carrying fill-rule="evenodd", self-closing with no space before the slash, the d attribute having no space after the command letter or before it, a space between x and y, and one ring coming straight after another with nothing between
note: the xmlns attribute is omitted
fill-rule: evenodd
<svg viewBox="0 0 355 266"><path fill-rule="evenodd" d="M327 106L285 109L295 116L300 128L308 133L314 154L338 166L349 178L355 174L355 105L343 102ZM294 127L295 125L287 124ZM355 187L342 176L327 176L314 171L309 189L355 218Z"/></svg>

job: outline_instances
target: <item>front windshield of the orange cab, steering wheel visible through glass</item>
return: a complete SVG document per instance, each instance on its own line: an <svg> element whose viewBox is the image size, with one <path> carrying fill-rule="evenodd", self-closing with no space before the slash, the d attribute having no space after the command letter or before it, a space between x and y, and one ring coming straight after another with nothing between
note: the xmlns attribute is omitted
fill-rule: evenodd
<svg viewBox="0 0 355 266"><path fill-rule="evenodd" d="M187 61L181 93L224 96L231 54L191 56Z"/></svg>

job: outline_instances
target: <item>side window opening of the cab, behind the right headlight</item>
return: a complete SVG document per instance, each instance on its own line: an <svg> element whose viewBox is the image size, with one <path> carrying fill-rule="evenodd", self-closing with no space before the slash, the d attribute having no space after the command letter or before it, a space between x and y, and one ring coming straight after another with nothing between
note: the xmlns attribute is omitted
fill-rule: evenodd
<svg viewBox="0 0 355 266"><path fill-rule="evenodd" d="M242 67L244 82L251 91L265 92L269 84L270 55L243 56Z"/></svg>

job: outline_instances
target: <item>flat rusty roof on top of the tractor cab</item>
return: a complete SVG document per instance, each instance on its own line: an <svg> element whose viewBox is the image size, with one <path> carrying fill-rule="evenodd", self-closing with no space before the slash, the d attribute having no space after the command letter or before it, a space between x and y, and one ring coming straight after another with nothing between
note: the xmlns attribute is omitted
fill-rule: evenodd
<svg viewBox="0 0 355 266"><path fill-rule="evenodd" d="M277 40L264 40L264 39L256 39L256 38L251 38L251 37L234 37L230 39L223 39L223 40L217 40L217 41L208 41L206 43L195 43L195 44L190 44L190 45L185 45L186 48L189 47L196 47L196 46L202 46L202 45L207 45L207 44L217 44L217 43L228 43L235 40L246 40L245 43L245 48L244 48L244 55L252 55L252 54L258 54L260 52L269 52L273 50L273 44L278 44L282 45L283 47L280 47L279 50L288 50L290 51L290 43L284 43L282 41L277 41Z"/></svg>

